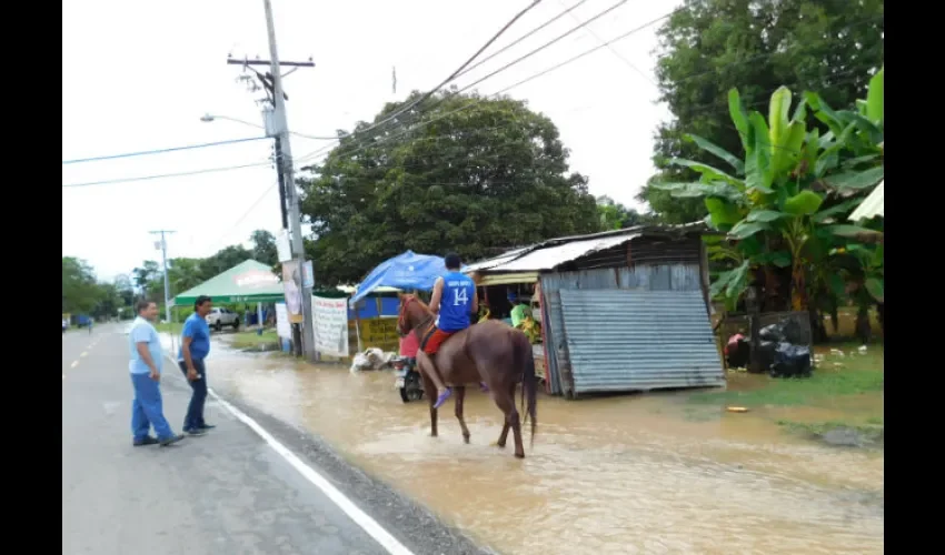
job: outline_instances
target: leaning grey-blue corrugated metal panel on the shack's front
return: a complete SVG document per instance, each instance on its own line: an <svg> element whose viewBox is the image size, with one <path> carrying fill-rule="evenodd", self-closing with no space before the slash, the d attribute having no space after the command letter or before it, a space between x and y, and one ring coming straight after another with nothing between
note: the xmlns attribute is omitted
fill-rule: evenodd
<svg viewBox="0 0 945 555"><path fill-rule="evenodd" d="M574 395L725 385L700 291L561 290Z"/></svg>

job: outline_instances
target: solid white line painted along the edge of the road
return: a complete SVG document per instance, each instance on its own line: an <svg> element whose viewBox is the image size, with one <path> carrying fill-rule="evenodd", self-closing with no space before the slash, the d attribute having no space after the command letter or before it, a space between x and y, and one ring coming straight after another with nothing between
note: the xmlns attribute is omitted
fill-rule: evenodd
<svg viewBox="0 0 945 555"><path fill-rule="evenodd" d="M173 359L168 355L168 359L177 364ZM261 437L266 443L272 447L272 451L278 453L282 458L289 463L292 468L298 471L306 480L311 482L311 484L325 494L326 497L331 500L335 505L338 506L349 518L351 518L355 524L361 527L369 536L371 536L381 547L387 549L387 553L390 555L414 555L414 553L408 549L404 544L397 541L389 532L384 529L384 527L378 524L377 521L371 518L367 513L358 508L355 503L349 500L344 493L341 493L337 487L335 487L328 480L325 478L321 474L315 471L311 466L307 465L301 458L298 457L295 453L289 451L288 447L282 445L279 440L272 436L269 432L266 431L262 426L259 425L258 422L249 417L246 413L237 408L236 406L229 404L226 400L220 397L212 389L207 389L207 393L210 394L220 405L222 405L227 411L230 412L233 416L237 417L240 422L249 426L250 430L256 432L259 437Z"/></svg>

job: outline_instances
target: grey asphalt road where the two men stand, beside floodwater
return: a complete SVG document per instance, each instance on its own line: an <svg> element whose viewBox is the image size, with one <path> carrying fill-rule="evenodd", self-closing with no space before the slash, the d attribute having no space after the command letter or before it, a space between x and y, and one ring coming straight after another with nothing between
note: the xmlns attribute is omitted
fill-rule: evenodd
<svg viewBox="0 0 945 555"><path fill-rule="evenodd" d="M298 462L211 398L207 421L217 427L209 434L169 447L132 447L122 329L62 337L63 554L484 553L422 507L345 467L318 438L248 407L245 413L271 431L271 441L299 453L329 487L347 490L341 495L404 549L385 548L377 528L371 537L370 526L342 511ZM161 390L165 415L179 433L190 390L168 361Z"/></svg>

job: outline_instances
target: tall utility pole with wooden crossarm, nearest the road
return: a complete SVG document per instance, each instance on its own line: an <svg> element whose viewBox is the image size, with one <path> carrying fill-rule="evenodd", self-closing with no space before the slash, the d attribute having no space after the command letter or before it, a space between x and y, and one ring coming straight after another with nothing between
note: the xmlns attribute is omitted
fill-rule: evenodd
<svg viewBox="0 0 945 555"><path fill-rule="evenodd" d="M272 104L276 134L279 138L276 163L280 168L286 188L286 200L289 203L289 224L292 233L292 251L299 265L299 275L305 275L305 245L302 243L301 214L299 213L299 195L296 190L295 172L292 170L292 148L289 143L289 124L286 117L286 93L282 91L282 75L279 68L279 52L276 49L276 24L272 20L272 6L269 0L262 0L266 9L266 30L269 36L269 64L272 74ZM314 65L314 64L312 64ZM268 75L267 75L268 77ZM306 359L315 361L315 321L311 311L311 287L306 286L302 279L302 351Z"/></svg>

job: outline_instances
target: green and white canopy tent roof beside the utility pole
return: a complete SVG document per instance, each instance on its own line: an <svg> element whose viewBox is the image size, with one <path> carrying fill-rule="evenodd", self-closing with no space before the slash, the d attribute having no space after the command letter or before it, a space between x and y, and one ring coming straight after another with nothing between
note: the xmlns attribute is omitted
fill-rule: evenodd
<svg viewBox="0 0 945 555"><path fill-rule="evenodd" d="M193 304L200 295L217 303L271 303L285 297L282 283L272 270L255 260L241 262L173 297L175 306Z"/></svg>

